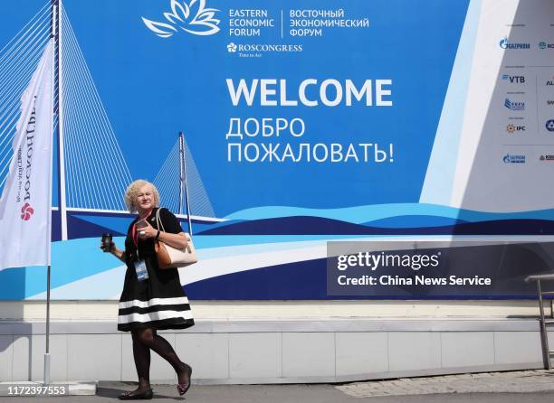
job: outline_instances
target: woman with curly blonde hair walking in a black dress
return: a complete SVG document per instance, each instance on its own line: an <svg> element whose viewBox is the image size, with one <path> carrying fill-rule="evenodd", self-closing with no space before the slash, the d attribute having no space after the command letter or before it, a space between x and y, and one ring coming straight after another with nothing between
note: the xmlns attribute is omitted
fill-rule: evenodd
<svg viewBox="0 0 554 403"><path fill-rule="evenodd" d="M177 217L167 209L158 208L158 190L152 183L142 180L131 183L125 194L125 202L130 212L139 213L127 231L125 250L117 248L113 242L108 248L102 246L103 250L127 265L123 292L119 299L118 330L130 331L132 335L139 388L125 392L119 398L152 398L149 379L150 350L157 352L171 364L177 372L177 391L184 395L190 388L192 368L179 360L171 344L157 331L186 329L195 322L177 268L158 267L155 243L161 241L183 249L187 247L186 236ZM162 222L159 223L158 220ZM159 228L165 231L158 230Z"/></svg>

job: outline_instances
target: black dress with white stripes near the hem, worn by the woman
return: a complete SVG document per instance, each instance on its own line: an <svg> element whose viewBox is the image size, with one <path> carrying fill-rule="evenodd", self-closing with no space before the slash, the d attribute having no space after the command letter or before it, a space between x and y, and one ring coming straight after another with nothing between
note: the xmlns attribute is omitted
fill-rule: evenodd
<svg viewBox="0 0 554 403"><path fill-rule="evenodd" d="M154 209L147 220L158 228ZM166 232L183 232L177 217L167 209L159 211ZM134 234L134 226L139 218L133 220L125 239L125 260L127 272L123 292L119 298L118 330L129 332L132 329L186 329L195 324L188 298L185 295L177 268L158 268L154 250L154 240L141 240ZM135 236L134 236L135 235ZM148 270L148 279L139 281L134 263L144 259Z"/></svg>

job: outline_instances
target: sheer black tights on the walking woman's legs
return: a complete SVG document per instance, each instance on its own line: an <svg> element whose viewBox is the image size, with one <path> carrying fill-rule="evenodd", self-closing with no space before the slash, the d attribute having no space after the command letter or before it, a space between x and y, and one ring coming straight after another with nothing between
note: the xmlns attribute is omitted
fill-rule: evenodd
<svg viewBox="0 0 554 403"><path fill-rule="evenodd" d="M133 357L139 375L139 389L150 389L150 349L156 351L161 358L169 362L177 372L179 383L188 381L186 364L179 360L177 352L171 344L156 329L137 329L131 331L133 337Z"/></svg>

